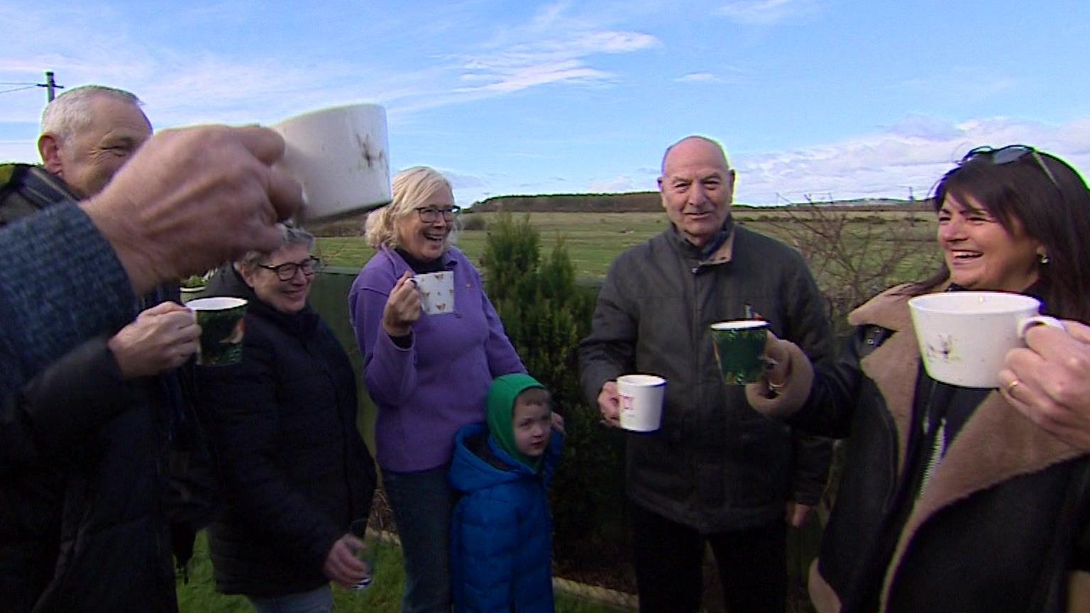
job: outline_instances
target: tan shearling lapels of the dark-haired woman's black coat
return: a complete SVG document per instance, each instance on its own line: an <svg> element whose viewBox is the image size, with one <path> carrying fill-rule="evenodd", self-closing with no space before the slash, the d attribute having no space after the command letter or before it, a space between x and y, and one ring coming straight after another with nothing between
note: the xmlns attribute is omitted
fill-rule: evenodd
<svg viewBox="0 0 1090 613"><path fill-rule="evenodd" d="M920 350L908 310L906 286L886 290L853 311L853 325L877 325L893 335L860 361L864 373L879 386L897 426L898 472L904 471L905 447L911 424L916 392L915 372ZM889 568L897 568L909 542L920 527L938 510L974 492L1021 474L1038 472L1052 465L1082 455L1052 436L993 390L977 407L954 438L927 489L905 522ZM882 610L895 573L887 573L882 589Z"/></svg>

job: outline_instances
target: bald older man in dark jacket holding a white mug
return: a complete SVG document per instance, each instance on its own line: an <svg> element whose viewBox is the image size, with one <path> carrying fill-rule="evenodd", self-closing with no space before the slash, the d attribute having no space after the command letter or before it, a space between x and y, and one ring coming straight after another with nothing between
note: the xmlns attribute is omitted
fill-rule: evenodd
<svg viewBox="0 0 1090 613"><path fill-rule="evenodd" d="M666 151L658 189L670 226L613 263L580 347L583 390L607 424L618 424L617 376L667 380L662 428L627 438L644 613L700 609L705 543L731 613L784 611L786 526L802 524L825 485L828 443L761 417L715 362L708 326L725 320L767 320L813 360L831 341L802 256L734 223L735 179L711 139Z"/></svg>

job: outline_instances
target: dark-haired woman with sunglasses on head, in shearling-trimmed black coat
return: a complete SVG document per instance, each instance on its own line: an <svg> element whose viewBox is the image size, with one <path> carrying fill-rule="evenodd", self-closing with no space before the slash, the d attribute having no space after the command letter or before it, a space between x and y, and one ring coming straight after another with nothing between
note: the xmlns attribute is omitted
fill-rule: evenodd
<svg viewBox="0 0 1090 613"><path fill-rule="evenodd" d="M966 155L935 207L938 274L853 311L853 337L816 372L770 340L778 363L747 387L765 414L850 437L811 598L822 613L1076 610L1090 597L1088 457L1012 407L1016 385L932 380L907 302L1005 291L1090 321L1090 194L1067 164L1013 145Z"/></svg>

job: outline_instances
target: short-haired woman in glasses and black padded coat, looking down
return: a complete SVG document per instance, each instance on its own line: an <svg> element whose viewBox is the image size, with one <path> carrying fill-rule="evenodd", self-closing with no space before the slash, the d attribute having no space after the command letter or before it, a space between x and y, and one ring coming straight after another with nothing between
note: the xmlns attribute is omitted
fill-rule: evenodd
<svg viewBox="0 0 1090 613"><path fill-rule="evenodd" d="M349 526L366 520L376 474L355 428L355 373L307 304L314 237L281 231L279 249L247 253L208 286L250 301L242 361L197 372L228 503L208 546L218 591L258 612L310 613L331 610L330 581L366 573Z"/></svg>

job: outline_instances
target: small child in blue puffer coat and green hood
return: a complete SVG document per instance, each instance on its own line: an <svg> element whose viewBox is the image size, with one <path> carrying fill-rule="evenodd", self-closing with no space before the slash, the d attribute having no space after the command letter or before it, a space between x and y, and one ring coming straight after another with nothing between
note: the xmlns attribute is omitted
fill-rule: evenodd
<svg viewBox="0 0 1090 613"><path fill-rule="evenodd" d="M455 437L450 483L451 591L458 613L553 613L548 482L562 420L534 377L506 374L488 389L487 423ZM554 432L556 429L556 432Z"/></svg>

